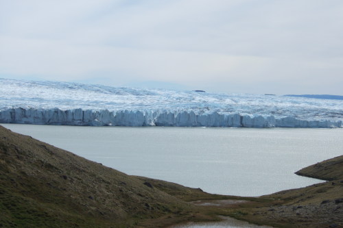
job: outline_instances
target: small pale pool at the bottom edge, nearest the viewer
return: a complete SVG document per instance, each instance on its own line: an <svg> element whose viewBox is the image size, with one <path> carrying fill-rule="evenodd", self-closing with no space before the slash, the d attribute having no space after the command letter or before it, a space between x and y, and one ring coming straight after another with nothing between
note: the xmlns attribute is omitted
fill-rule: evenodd
<svg viewBox="0 0 343 228"><path fill-rule="evenodd" d="M235 218L221 216L224 220L215 223L188 223L185 225L176 225L170 228L271 228L269 226L254 225Z"/></svg>

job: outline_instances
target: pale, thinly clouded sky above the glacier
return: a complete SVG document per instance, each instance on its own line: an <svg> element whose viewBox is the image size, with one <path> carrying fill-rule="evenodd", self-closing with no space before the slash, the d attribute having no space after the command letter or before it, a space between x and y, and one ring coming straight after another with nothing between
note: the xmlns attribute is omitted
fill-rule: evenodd
<svg viewBox="0 0 343 228"><path fill-rule="evenodd" d="M343 95L342 0L0 0L0 77Z"/></svg>

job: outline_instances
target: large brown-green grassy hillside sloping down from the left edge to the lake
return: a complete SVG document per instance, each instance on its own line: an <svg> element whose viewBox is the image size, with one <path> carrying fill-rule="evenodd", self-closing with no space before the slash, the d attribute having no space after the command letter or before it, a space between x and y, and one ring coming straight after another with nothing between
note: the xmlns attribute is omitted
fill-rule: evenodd
<svg viewBox="0 0 343 228"><path fill-rule="evenodd" d="M163 216L169 223L197 219L193 205L148 181L0 126L0 227L130 227Z"/></svg>

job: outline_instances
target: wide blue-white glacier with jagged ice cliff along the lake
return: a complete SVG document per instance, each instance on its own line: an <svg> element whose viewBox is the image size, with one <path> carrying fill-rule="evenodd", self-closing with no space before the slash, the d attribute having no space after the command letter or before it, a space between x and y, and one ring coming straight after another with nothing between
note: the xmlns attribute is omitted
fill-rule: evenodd
<svg viewBox="0 0 343 228"><path fill-rule="evenodd" d="M0 123L342 127L343 101L0 79Z"/></svg>

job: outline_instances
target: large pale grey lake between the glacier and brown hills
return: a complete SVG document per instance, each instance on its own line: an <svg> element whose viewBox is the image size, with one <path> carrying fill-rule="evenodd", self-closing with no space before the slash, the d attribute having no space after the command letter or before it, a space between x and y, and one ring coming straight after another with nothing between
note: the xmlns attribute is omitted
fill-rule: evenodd
<svg viewBox="0 0 343 228"><path fill-rule="evenodd" d="M3 126L129 175L239 196L319 183L294 172L343 151L343 129Z"/></svg>

